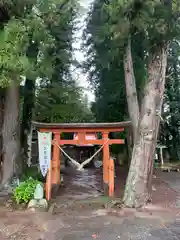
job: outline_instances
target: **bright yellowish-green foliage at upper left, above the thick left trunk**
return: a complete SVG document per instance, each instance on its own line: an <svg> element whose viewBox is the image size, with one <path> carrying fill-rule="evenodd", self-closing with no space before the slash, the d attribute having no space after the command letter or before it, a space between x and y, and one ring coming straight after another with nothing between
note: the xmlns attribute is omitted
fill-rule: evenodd
<svg viewBox="0 0 180 240"><path fill-rule="evenodd" d="M36 1L23 4L22 15L9 16L9 20L0 32L0 67L2 69L0 87L7 87L12 80L17 81L17 84L20 83L21 76L31 76L32 79L47 76L47 70L50 70L50 67L45 67L45 59L50 66L47 48L53 45L53 39L44 25L44 20L37 15L37 8L36 11L34 10L33 4L36 4ZM38 44L40 53L35 59L27 55L33 42Z"/></svg>

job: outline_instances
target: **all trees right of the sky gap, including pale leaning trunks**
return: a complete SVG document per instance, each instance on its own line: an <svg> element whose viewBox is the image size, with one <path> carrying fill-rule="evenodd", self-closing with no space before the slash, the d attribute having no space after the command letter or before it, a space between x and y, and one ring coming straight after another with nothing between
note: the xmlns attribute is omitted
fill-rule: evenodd
<svg viewBox="0 0 180 240"><path fill-rule="evenodd" d="M85 68L96 119L132 121L129 207L151 201L157 140L179 158L179 11L171 0L95 0L87 20Z"/></svg>

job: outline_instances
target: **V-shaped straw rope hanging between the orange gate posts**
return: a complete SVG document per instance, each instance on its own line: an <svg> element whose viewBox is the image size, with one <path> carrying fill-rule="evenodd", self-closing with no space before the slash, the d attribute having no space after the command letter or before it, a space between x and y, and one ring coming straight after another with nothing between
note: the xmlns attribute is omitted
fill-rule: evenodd
<svg viewBox="0 0 180 240"><path fill-rule="evenodd" d="M90 158L86 159L81 164L78 161L76 161L75 159L73 159L72 157L70 157L55 140L53 140L53 143L56 146L58 146L59 149L62 151L62 153L72 162L72 164L74 164L74 166L76 166L78 171L82 171L84 166L86 166L88 163L90 163L93 160L93 158L103 149L103 147L108 143L108 141L109 141L109 139L107 139L107 141L105 141L104 144Z"/></svg>

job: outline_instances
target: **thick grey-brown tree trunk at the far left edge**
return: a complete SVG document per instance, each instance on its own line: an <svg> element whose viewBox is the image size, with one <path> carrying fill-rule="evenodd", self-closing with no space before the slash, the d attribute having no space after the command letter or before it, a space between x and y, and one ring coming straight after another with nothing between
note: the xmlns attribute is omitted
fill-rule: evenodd
<svg viewBox="0 0 180 240"><path fill-rule="evenodd" d="M9 184L13 175L21 169L19 152L19 86L13 80L6 90L4 105L3 139L3 177L1 187Z"/></svg>

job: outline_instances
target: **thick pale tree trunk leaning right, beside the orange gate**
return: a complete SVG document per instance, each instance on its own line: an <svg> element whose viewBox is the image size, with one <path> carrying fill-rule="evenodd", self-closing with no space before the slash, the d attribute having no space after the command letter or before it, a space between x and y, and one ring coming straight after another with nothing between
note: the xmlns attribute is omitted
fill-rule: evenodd
<svg viewBox="0 0 180 240"><path fill-rule="evenodd" d="M124 193L127 207L142 207L151 201L153 160L163 103L167 48L150 57L137 138Z"/></svg>

